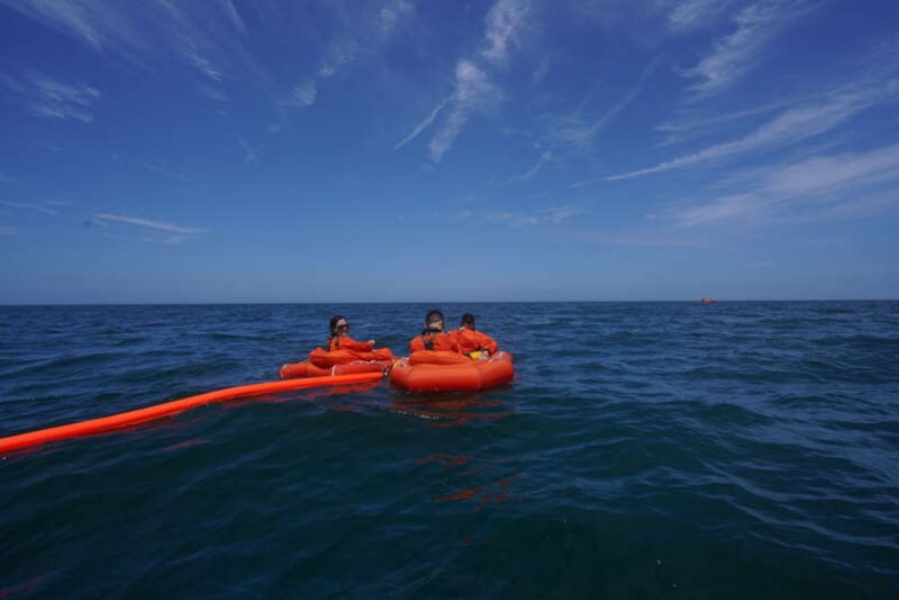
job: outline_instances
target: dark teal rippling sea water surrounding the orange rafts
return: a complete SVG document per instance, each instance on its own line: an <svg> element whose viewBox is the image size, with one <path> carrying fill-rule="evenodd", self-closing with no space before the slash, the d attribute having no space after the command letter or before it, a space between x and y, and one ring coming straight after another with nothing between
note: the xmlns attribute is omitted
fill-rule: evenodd
<svg viewBox="0 0 899 600"><path fill-rule="evenodd" d="M0 436L277 378L346 314L0 307ZM899 303L446 304L510 387L230 401L0 457L0 597L899 597Z"/></svg>

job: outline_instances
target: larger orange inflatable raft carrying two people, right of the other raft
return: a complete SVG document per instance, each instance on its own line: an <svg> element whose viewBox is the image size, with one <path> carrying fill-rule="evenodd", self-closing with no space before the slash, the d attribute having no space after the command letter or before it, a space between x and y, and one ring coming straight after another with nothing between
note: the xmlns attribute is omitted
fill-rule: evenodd
<svg viewBox="0 0 899 600"><path fill-rule="evenodd" d="M474 360L455 352L419 350L390 369L391 384L416 393L481 392L507 384L514 376L508 352Z"/></svg>

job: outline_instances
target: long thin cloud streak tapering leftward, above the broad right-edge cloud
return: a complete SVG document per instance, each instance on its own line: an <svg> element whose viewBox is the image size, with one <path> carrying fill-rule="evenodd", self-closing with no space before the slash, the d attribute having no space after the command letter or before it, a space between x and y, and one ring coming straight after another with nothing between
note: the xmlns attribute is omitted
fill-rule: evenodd
<svg viewBox="0 0 899 600"><path fill-rule="evenodd" d="M896 89L899 89L899 84L890 80L864 80L847 84L829 93L824 93L820 101L784 110L745 137L708 146L699 152L686 154L653 167L583 181L574 184L573 187L595 181L616 181L672 171L693 164L717 161L737 154L784 146L820 136L853 119L863 110L881 102L895 101Z"/></svg>

